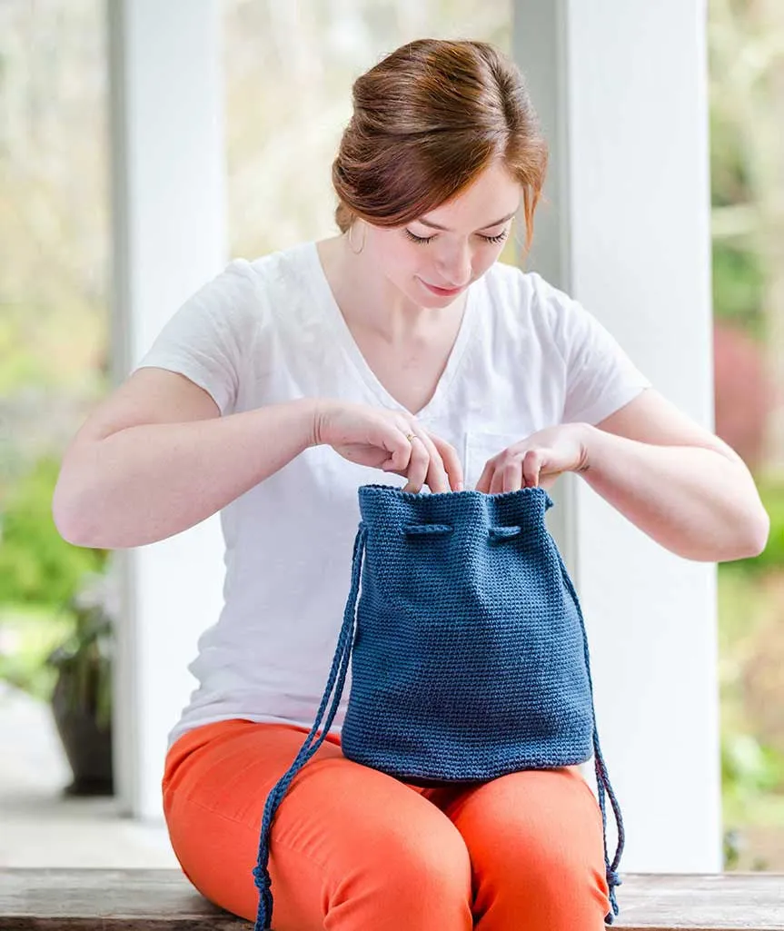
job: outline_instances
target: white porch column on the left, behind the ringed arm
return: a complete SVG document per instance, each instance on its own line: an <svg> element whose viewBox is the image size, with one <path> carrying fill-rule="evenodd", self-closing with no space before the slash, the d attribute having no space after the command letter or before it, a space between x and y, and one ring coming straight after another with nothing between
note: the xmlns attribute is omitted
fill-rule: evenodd
<svg viewBox="0 0 784 931"><path fill-rule="evenodd" d="M108 0L106 10L116 383L226 261L223 66L220 0ZM198 633L220 610L222 554L217 518L117 554L127 597L115 775L134 816L161 817L166 735L195 684L186 665Z"/></svg>

